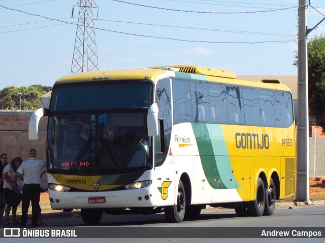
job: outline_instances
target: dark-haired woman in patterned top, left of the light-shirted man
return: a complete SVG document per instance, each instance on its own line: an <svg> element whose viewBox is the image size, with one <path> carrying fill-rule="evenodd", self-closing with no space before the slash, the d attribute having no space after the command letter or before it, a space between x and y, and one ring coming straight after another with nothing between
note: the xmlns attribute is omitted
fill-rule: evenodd
<svg viewBox="0 0 325 243"><path fill-rule="evenodd" d="M17 174L16 171L18 167L21 165L22 159L21 157L15 157L9 165L7 165L4 169L4 191L5 191L5 198L7 198L12 190L14 190L18 185L17 185ZM11 225L16 225L19 224L20 222L16 218L16 212L17 212L17 207L11 207L7 204L6 209L5 209L5 222L4 225L9 225L9 215L10 215L10 210L12 212L12 224Z"/></svg>

